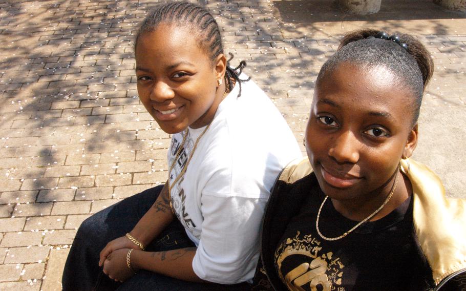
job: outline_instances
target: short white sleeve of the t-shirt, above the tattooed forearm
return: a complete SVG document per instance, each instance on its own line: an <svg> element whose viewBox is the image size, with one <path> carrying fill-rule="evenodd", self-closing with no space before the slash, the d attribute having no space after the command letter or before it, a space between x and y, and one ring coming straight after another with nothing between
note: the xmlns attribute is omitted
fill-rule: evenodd
<svg viewBox="0 0 466 291"><path fill-rule="evenodd" d="M267 200L203 195L201 202L204 221L194 272L221 284L251 280L259 260L259 228Z"/></svg>

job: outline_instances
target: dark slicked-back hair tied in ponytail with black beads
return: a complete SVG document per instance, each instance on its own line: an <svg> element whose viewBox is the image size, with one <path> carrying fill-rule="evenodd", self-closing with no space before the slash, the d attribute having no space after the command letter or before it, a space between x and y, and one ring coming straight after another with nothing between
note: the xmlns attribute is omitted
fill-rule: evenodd
<svg viewBox="0 0 466 291"><path fill-rule="evenodd" d="M413 93L414 125L419 117L423 92L434 71L432 58L426 47L409 34L400 33L387 39L378 38L380 33L374 29L363 29L346 34L336 53L322 66L316 83L346 62L363 68L383 66Z"/></svg>

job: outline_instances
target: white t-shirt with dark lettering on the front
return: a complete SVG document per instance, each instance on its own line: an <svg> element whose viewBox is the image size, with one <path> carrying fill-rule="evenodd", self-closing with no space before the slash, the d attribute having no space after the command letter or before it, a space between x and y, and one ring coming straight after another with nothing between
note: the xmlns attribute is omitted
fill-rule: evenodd
<svg viewBox="0 0 466 291"><path fill-rule="evenodd" d="M244 77L241 76L242 78ZM254 82L242 83L220 103L185 174L172 186L173 209L197 245L199 278L234 284L252 279L259 259L259 230L270 189L282 169L300 158L283 116ZM188 128L171 173L173 183L204 128ZM174 134L171 165L183 140Z"/></svg>

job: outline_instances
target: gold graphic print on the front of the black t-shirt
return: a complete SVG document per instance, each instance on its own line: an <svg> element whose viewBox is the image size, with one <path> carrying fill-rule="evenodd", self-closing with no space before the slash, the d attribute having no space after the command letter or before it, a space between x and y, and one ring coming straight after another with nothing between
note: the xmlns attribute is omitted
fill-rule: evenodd
<svg viewBox="0 0 466 291"><path fill-rule="evenodd" d="M345 267L340 258L334 258L333 253L323 253L321 242L311 235L300 238L300 232L294 238L287 238L282 242L275 252L275 262L278 274L283 282L292 291L320 290L344 291L341 287L343 271ZM287 274L282 273L282 263L291 256L304 256L308 259L296 259L287 261ZM296 266L289 267L293 261L299 261ZM286 272L286 271L284 271Z"/></svg>

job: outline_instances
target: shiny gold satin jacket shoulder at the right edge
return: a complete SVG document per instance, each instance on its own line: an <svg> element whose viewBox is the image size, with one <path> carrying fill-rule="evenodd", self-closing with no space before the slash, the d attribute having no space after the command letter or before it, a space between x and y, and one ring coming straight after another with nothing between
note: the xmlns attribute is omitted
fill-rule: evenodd
<svg viewBox="0 0 466 291"><path fill-rule="evenodd" d="M435 284L466 268L466 201L445 197L440 179L426 165L401 160L413 186L414 228Z"/></svg>

